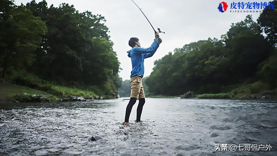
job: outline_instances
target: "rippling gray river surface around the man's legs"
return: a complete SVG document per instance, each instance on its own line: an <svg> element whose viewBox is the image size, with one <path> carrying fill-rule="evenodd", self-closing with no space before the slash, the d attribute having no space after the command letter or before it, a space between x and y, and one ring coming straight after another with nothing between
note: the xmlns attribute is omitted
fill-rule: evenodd
<svg viewBox="0 0 277 156"><path fill-rule="evenodd" d="M124 99L1 104L0 155L277 155L277 100Z"/></svg>

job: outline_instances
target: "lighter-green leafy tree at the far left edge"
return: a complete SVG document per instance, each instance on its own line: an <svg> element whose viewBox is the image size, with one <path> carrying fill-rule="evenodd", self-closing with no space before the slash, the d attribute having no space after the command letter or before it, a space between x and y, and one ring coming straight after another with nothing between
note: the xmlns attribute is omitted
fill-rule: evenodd
<svg viewBox="0 0 277 156"><path fill-rule="evenodd" d="M3 58L2 78L10 66L15 69L29 67L35 61L35 49L41 43L47 27L39 17L32 15L24 5L12 1L1 5L0 46ZM4 31L5 30L5 31Z"/></svg>

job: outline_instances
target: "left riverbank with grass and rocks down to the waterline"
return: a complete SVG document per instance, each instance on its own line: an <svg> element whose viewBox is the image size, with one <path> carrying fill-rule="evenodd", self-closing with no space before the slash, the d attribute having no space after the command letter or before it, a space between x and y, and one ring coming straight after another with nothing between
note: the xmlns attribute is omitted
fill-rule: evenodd
<svg viewBox="0 0 277 156"><path fill-rule="evenodd" d="M82 99L111 99L116 95L97 95L94 91L82 90L60 85L49 85L40 87L45 90L30 88L24 85L17 85L15 81L1 79L0 81L0 102L17 102L17 101L68 101L74 100L73 97L82 97ZM78 99L77 99L78 100Z"/></svg>

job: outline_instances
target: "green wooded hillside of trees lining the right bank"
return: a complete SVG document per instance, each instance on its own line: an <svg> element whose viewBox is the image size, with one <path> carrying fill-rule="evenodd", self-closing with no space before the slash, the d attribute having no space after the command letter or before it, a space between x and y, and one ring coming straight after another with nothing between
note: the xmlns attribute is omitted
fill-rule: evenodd
<svg viewBox="0 0 277 156"><path fill-rule="evenodd" d="M154 62L145 83L154 95L225 92L228 86L262 81L277 87L277 1L257 22L251 15L232 23L220 39L208 38L176 48Z"/></svg>

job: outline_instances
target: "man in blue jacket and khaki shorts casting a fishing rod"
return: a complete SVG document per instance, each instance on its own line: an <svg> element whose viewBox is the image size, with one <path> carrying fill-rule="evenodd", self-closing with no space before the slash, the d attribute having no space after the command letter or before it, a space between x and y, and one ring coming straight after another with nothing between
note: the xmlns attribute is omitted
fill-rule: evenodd
<svg viewBox="0 0 277 156"><path fill-rule="evenodd" d="M140 48L140 41L136 37L132 37L129 40L129 45L132 47L131 50L127 51L128 57L131 58L132 61L132 71L131 71L131 96L130 101L126 108L125 113L125 121L123 124L129 124L129 117L131 114L131 110L133 105L136 103L137 99L139 99L139 104L137 106L137 120L136 122L140 122L140 116L142 112L143 105L145 103L145 95L142 86L142 78L144 74L144 59L150 58L154 55L157 48L159 47L162 39L159 38L159 34L155 33L155 39L152 45L149 48Z"/></svg>

